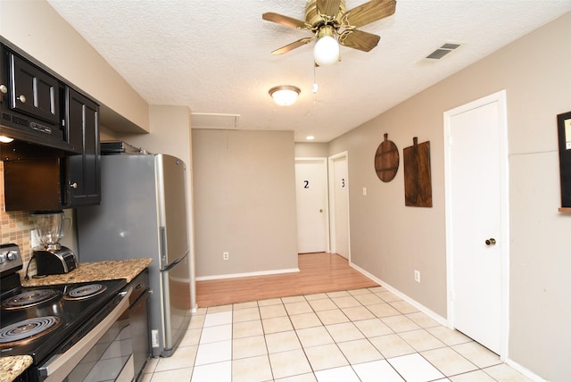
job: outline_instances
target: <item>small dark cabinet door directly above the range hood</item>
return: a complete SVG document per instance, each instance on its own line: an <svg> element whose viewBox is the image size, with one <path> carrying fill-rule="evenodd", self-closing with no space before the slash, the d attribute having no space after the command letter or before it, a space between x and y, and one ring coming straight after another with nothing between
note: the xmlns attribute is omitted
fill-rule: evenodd
<svg viewBox="0 0 571 382"><path fill-rule="evenodd" d="M15 54L9 57L12 74L10 107L59 125L57 79Z"/></svg>

